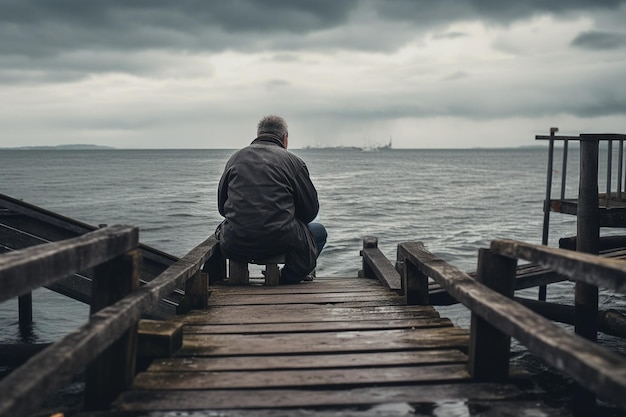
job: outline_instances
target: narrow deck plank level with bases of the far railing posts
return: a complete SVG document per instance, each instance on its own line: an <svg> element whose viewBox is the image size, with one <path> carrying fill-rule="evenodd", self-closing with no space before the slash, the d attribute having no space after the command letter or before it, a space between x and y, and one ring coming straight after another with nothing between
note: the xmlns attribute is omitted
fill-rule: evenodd
<svg viewBox="0 0 626 417"><path fill-rule="evenodd" d="M393 293L372 293L372 292L356 292L351 294L342 293L322 293L322 294L291 294L284 296L282 294L229 294L221 296L219 294L211 294L209 304L211 306L233 306L233 305L276 305L276 304L328 304L328 303L344 303L355 301L401 301L402 299Z"/></svg>

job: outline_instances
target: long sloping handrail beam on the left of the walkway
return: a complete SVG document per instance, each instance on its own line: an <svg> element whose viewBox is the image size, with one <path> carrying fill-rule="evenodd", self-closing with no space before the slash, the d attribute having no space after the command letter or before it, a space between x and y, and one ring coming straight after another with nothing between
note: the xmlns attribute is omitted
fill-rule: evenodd
<svg viewBox="0 0 626 417"><path fill-rule="evenodd" d="M214 236L209 237L150 283L99 310L88 323L11 372L0 381L0 416L28 415L40 400L69 382L161 298L199 275L202 265L219 252L218 243Z"/></svg>

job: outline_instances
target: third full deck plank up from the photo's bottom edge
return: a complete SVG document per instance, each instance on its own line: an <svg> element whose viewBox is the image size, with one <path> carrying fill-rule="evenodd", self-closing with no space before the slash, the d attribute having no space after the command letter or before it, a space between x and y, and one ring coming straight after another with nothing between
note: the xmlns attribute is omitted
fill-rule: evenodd
<svg viewBox="0 0 626 417"><path fill-rule="evenodd" d="M150 372L217 372L278 369L371 368L374 366L410 366L443 363L466 363L460 350L417 350L401 352L338 353L325 355L185 357L158 359Z"/></svg>

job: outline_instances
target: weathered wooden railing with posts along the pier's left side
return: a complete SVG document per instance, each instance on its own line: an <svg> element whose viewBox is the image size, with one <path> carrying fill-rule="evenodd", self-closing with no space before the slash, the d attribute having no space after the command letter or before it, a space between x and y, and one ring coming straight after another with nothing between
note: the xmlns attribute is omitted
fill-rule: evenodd
<svg viewBox="0 0 626 417"><path fill-rule="evenodd" d="M83 236L0 256L0 301L95 267L89 321L0 381L0 416L26 416L82 369L85 408L100 409L130 385L136 326L142 314L176 288L186 288L179 311L206 307L206 269L220 277L223 258L214 236L141 288L138 229L106 227Z"/></svg>

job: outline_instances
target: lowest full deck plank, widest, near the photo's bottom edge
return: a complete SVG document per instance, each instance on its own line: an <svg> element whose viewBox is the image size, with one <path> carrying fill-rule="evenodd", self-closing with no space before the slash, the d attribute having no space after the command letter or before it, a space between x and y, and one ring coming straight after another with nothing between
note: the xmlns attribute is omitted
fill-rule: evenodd
<svg viewBox="0 0 626 417"><path fill-rule="evenodd" d="M367 387L341 390L311 389L252 389L252 390L176 390L128 391L120 396L115 406L119 410L157 411L157 410L243 410L241 415L251 415L247 409L272 407L280 415L295 413L295 408L306 407L358 407L374 406L386 403L428 403L461 402L469 403L487 400L514 400L524 395L513 384L433 384L401 385L389 387ZM519 411L518 409L515 409ZM256 414L255 410L255 415ZM313 413L312 410L307 410ZM425 413L424 413L425 414ZM142 414L145 415L145 414ZM150 414L153 416L154 414ZM220 416L228 414L220 413ZM314 414L308 414L314 415ZM340 414L341 415L341 414ZM343 415L350 415L344 412ZM353 414L354 415L354 414ZM384 414L378 414L380 417ZM427 415L427 414L425 414ZM446 414L447 415L447 414ZM456 415L456 414L449 414ZM469 412L466 414L469 415ZM506 414L501 414L506 415ZM516 414L521 415L521 414ZM528 414L533 415L533 414ZM550 415L556 414L534 414ZM482 414L481 414L482 416Z"/></svg>

